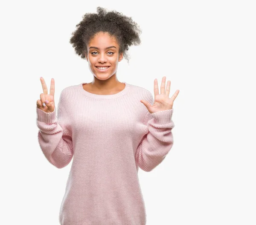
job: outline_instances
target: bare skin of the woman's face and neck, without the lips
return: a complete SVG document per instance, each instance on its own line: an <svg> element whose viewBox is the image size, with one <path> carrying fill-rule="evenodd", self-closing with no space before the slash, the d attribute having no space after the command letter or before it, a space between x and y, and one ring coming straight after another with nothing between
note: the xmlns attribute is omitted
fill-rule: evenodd
<svg viewBox="0 0 256 225"><path fill-rule="evenodd" d="M110 46L114 47L108 48ZM122 91L125 84L118 81L116 72L123 53L118 54L119 44L116 39L107 32L99 32L87 44L87 52L85 58L94 79L91 83L83 85L84 90L99 95L111 95ZM96 68L105 65L110 66L106 72L100 72Z"/></svg>

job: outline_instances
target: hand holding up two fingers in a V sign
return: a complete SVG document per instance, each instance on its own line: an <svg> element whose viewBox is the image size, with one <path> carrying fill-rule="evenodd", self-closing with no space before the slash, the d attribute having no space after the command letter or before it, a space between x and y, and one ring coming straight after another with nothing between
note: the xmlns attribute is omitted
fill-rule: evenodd
<svg viewBox="0 0 256 225"><path fill-rule="evenodd" d="M52 78L51 80L51 87L50 87L50 94L48 95L48 90L47 86L44 82L44 78L40 78L43 91L44 93L40 94L40 100L36 102L36 106L38 109L43 110L46 113L52 113L55 108L55 103L54 103L54 91L55 91L55 83L54 79ZM43 103L45 103L45 106L43 106Z"/></svg>

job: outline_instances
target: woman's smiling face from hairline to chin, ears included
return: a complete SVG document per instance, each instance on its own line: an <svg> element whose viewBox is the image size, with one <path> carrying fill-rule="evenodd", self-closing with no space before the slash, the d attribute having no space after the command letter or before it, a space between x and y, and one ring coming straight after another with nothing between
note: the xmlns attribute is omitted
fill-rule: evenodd
<svg viewBox="0 0 256 225"><path fill-rule="evenodd" d="M118 62L123 58L122 53L118 55L119 44L116 39L107 32L97 33L87 44L87 52L88 55L85 55L85 58L89 64L89 69L99 80L107 80L114 75Z"/></svg>

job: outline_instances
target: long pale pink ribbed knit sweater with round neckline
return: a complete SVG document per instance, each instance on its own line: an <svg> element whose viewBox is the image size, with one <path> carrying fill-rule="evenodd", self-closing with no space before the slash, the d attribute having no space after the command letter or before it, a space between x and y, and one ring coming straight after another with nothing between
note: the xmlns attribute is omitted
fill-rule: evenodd
<svg viewBox="0 0 256 225"><path fill-rule="evenodd" d="M70 163L59 211L61 225L145 225L139 167L151 171L172 148L171 110L149 113L147 89L126 82L113 95L83 84L61 91L56 110L36 108L38 141L55 167ZM55 106L56 109L56 106Z"/></svg>

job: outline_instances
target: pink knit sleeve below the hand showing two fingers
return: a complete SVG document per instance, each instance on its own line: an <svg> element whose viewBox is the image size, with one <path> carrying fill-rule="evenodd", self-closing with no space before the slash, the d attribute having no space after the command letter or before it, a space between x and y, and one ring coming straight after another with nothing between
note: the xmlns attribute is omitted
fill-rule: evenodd
<svg viewBox="0 0 256 225"><path fill-rule="evenodd" d="M67 129L68 115L64 110L64 103L65 96L62 91L57 117L56 106L52 113L46 113L36 107L39 145L47 160L57 168L67 166L73 157L72 134Z"/></svg>

